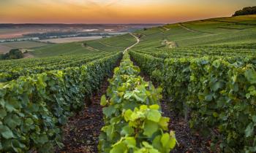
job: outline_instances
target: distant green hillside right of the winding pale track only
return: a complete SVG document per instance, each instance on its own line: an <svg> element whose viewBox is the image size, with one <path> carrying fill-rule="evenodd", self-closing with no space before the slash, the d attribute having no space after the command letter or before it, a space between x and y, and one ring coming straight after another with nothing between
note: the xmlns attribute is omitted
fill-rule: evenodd
<svg viewBox="0 0 256 153"><path fill-rule="evenodd" d="M136 48L170 47L171 44L174 47L249 45L256 42L256 15L168 24L137 33L141 35L141 42Z"/></svg>

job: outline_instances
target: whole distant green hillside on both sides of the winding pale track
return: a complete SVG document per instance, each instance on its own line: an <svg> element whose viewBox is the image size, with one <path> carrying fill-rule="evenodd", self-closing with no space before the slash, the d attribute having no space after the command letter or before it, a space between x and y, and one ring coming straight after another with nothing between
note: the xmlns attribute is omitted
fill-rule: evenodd
<svg viewBox="0 0 256 153"><path fill-rule="evenodd" d="M256 48L256 15L219 17L135 31L140 43L135 49L173 48L189 46L222 46ZM134 44L130 34L84 42L52 44L31 52L35 57L77 55L98 51L121 51Z"/></svg>

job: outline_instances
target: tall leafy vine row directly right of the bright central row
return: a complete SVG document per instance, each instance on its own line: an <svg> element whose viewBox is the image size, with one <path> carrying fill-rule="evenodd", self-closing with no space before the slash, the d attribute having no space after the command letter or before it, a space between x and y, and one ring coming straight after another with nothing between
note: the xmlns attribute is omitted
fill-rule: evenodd
<svg viewBox="0 0 256 153"><path fill-rule="evenodd" d="M159 58L129 53L161 82L170 106L189 116L194 130L211 136L213 149L255 152L255 56L170 58L155 67L156 73L151 63L160 63Z"/></svg>

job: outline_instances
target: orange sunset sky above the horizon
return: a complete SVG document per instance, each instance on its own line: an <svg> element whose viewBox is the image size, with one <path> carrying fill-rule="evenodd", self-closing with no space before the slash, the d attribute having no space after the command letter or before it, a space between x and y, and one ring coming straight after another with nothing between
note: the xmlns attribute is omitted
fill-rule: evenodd
<svg viewBox="0 0 256 153"><path fill-rule="evenodd" d="M225 17L256 0L0 0L0 23L176 23Z"/></svg>

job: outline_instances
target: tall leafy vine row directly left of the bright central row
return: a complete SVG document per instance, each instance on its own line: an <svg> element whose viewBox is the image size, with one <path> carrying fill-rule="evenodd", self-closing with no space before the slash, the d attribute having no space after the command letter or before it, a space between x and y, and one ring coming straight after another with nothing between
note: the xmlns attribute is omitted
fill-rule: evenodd
<svg viewBox="0 0 256 153"><path fill-rule="evenodd" d="M61 144L61 126L84 107L121 52L80 67L20 76L0 84L0 152L53 152Z"/></svg>

